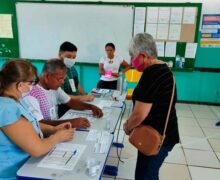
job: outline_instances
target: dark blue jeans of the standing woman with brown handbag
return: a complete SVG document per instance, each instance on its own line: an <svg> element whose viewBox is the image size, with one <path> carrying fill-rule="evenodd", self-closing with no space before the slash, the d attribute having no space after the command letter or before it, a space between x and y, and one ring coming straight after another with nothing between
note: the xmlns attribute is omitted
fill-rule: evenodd
<svg viewBox="0 0 220 180"><path fill-rule="evenodd" d="M173 147L162 147L156 156L145 156L138 151L135 180L159 180L159 169Z"/></svg>

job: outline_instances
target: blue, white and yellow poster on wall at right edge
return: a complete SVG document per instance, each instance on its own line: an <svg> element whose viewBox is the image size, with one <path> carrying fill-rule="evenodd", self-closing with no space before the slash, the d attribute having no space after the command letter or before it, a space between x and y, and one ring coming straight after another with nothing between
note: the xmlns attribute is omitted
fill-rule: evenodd
<svg viewBox="0 0 220 180"><path fill-rule="evenodd" d="M220 14L203 15L200 46L220 47Z"/></svg>

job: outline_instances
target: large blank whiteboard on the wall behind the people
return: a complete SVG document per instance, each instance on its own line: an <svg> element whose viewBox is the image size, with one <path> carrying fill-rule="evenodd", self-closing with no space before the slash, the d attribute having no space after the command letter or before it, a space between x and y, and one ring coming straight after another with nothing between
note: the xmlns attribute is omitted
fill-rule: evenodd
<svg viewBox="0 0 220 180"><path fill-rule="evenodd" d="M115 44L115 54L130 59L132 6L18 2L16 11L22 58L57 57L60 44L70 41L80 62L99 62L108 42Z"/></svg>

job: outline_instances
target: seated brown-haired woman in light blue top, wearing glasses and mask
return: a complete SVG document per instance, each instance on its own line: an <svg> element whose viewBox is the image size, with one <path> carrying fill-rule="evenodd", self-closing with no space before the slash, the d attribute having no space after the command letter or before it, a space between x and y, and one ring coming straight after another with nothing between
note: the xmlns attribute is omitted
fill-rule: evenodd
<svg viewBox="0 0 220 180"><path fill-rule="evenodd" d="M42 156L56 143L73 138L70 123L39 124L19 102L36 79L36 69L24 60L8 61L0 71L0 179L16 179L29 156ZM53 135L42 139L42 133Z"/></svg>

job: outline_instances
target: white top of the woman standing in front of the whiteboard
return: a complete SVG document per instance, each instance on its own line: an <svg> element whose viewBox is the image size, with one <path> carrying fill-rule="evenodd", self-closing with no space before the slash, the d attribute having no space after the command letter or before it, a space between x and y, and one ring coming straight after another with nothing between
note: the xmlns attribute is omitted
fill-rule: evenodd
<svg viewBox="0 0 220 180"><path fill-rule="evenodd" d="M121 63L123 62L123 58L119 56L114 56L113 59L109 59L108 57L101 57L99 63L103 64L104 70L110 70L113 73L118 73L119 68L121 66ZM105 75L102 75L101 80L103 81L115 81L118 78L112 76L111 78L105 77Z"/></svg>

